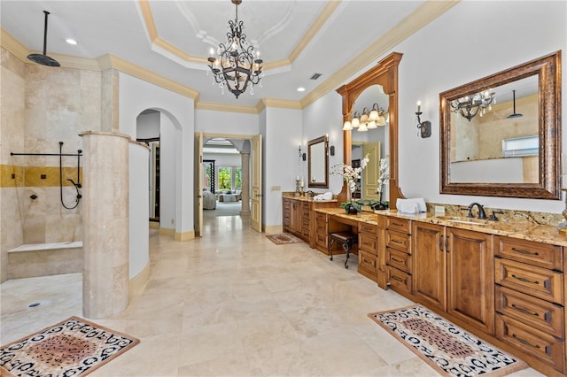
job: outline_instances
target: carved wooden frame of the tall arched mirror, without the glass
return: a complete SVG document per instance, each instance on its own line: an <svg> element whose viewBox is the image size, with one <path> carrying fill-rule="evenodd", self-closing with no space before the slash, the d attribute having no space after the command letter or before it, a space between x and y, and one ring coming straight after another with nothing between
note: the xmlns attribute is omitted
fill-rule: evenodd
<svg viewBox="0 0 567 377"><path fill-rule="evenodd" d="M387 96L387 101L381 106L387 109L388 115L388 148L387 154L390 162L390 180L388 181L388 200L390 208L396 208L396 200L401 197L401 189L398 186L398 65L400 65L402 54L392 52L369 71L362 73L353 81L337 89L338 94L343 96L343 122L350 119L353 112L354 102L365 89L378 85ZM376 101L375 101L376 102ZM372 106L372 104L364 104ZM351 130L343 131L343 161L350 164L352 161L353 135ZM354 131L356 132L356 131ZM338 200L345 202L348 198L348 189L343 184Z"/></svg>

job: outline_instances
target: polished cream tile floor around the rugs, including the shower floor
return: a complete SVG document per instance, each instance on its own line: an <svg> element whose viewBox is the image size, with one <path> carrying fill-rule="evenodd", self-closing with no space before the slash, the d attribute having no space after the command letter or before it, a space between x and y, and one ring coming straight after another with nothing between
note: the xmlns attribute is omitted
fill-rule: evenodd
<svg viewBox="0 0 567 377"><path fill-rule="evenodd" d="M438 375L367 317L412 303L357 273L355 256L346 270L344 256L275 245L239 216L206 218L190 242L151 230L150 250L144 293L96 320L141 343L93 377ZM5 344L82 316L82 274L6 281L0 299Z"/></svg>

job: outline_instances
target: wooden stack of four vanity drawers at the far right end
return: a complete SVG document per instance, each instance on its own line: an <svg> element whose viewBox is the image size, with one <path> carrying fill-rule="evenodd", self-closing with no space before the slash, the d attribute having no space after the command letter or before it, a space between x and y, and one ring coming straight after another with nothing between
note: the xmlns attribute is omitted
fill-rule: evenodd
<svg viewBox="0 0 567 377"><path fill-rule="evenodd" d="M494 255L496 337L567 372L563 247L496 236Z"/></svg>

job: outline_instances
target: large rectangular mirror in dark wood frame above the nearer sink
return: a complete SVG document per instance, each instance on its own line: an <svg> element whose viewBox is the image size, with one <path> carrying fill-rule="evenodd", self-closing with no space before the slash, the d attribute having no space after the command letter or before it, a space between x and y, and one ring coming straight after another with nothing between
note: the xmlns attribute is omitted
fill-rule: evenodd
<svg viewBox="0 0 567 377"><path fill-rule="evenodd" d="M439 100L441 194L561 199L561 51Z"/></svg>

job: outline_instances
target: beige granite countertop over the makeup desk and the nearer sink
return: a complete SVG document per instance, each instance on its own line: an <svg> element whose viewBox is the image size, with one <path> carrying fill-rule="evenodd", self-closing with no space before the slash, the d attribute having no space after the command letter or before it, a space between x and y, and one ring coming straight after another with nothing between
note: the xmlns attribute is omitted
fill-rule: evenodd
<svg viewBox="0 0 567 377"><path fill-rule="evenodd" d="M392 216L400 219L410 219L414 221L428 222L430 224L439 224L441 226L469 229L489 235L506 235L523 240L567 246L567 234L559 232L556 227L537 225L527 222L510 223L504 221L486 221L485 225L479 225L464 224L449 219L442 219L427 212L409 214L400 213L395 210L386 210L375 213L361 212L357 215L349 215L346 214L345 210L342 208L322 208L315 211L330 213L332 215L345 217L346 219L358 219L371 224L377 224L377 216Z"/></svg>

